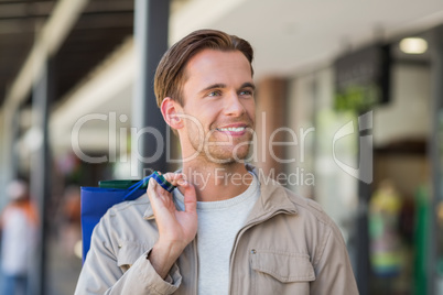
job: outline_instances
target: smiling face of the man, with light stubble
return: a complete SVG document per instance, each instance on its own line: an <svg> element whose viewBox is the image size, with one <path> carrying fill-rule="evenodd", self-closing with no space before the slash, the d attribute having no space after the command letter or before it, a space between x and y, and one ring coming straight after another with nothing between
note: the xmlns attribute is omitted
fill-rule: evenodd
<svg viewBox="0 0 443 295"><path fill-rule="evenodd" d="M233 163L248 155L256 102L248 59L239 51L204 50L186 65L183 86L185 157Z"/></svg>

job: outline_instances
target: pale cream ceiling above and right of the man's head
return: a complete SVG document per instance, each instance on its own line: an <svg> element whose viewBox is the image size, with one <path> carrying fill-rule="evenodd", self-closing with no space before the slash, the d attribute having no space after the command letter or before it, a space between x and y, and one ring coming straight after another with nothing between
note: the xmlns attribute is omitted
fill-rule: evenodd
<svg viewBox="0 0 443 295"><path fill-rule="evenodd" d="M256 50L259 75L291 75L443 22L440 0L244 0L210 23Z"/></svg>

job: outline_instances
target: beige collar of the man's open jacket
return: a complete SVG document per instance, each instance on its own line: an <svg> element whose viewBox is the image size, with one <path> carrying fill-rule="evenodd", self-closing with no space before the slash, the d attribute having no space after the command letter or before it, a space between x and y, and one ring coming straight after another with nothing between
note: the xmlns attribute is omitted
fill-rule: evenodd
<svg viewBox="0 0 443 295"><path fill-rule="evenodd" d="M246 168L257 176L260 185L260 198L252 207L247 222L260 219L268 215L273 215L278 211L298 214L295 204L291 201L290 196L288 195L289 190L284 189L284 187L274 179L266 176L263 171L250 164L246 164ZM143 219L150 220L153 218L154 212L152 207L148 206Z"/></svg>

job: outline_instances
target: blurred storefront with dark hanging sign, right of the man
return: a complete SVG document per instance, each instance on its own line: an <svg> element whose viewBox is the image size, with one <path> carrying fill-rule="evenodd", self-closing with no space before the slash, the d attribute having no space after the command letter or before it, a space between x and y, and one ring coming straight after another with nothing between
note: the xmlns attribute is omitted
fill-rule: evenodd
<svg viewBox="0 0 443 295"><path fill-rule="evenodd" d="M422 53L407 53L402 35L289 83L288 125L312 132L288 151L296 161L285 172L315 179L289 187L337 222L361 294L442 293L441 32L412 34Z"/></svg>

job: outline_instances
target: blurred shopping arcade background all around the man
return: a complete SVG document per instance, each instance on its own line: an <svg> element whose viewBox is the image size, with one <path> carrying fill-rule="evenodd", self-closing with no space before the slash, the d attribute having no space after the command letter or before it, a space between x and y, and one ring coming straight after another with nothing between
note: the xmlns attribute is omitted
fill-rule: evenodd
<svg viewBox="0 0 443 295"><path fill-rule="evenodd" d="M252 44L250 162L333 217L360 294L443 294L442 1L0 0L0 208L29 184L30 294L74 292L80 186L177 167L153 73L203 28Z"/></svg>

